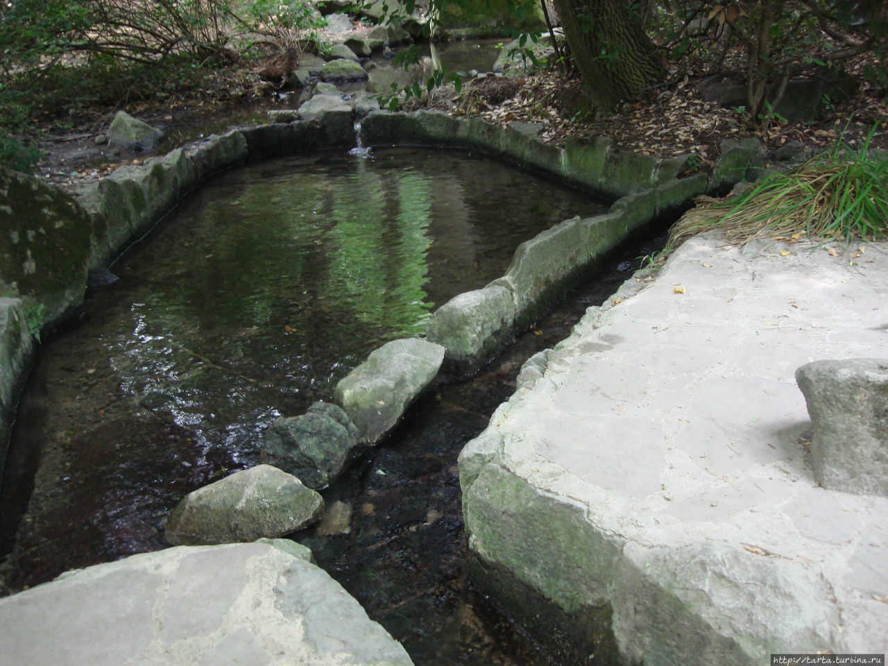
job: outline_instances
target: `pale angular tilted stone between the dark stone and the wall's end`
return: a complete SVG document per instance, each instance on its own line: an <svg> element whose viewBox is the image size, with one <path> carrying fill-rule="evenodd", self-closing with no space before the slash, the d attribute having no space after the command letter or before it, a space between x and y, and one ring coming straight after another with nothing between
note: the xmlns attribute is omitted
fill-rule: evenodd
<svg viewBox="0 0 888 666"><path fill-rule="evenodd" d="M369 443L382 439L438 374L444 347L416 337L385 343L336 387L336 399Z"/></svg>

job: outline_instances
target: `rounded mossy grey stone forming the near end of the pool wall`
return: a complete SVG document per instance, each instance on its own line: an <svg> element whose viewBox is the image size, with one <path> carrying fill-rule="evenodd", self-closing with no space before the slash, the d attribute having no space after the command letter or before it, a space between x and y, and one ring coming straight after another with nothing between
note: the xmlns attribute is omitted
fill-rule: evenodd
<svg viewBox="0 0 888 666"><path fill-rule="evenodd" d="M509 286L493 283L441 305L432 313L425 334L431 342L444 346L448 360L473 369L511 337L517 316Z"/></svg>

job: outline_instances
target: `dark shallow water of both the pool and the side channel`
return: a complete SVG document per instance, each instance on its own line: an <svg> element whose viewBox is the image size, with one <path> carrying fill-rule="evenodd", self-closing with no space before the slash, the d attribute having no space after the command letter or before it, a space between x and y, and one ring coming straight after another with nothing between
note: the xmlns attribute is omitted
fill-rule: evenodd
<svg viewBox="0 0 888 666"><path fill-rule="evenodd" d="M276 416L330 400L370 351L502 275L519 242L606 208L459 151L298 155L210 179L40 349L0 493L10 588L167 547L172 507L257 464ZM456 457L521 363L657 242L607 258L476 377L439 377L292 535L417 665L551 663L464 579Z"/></svg>

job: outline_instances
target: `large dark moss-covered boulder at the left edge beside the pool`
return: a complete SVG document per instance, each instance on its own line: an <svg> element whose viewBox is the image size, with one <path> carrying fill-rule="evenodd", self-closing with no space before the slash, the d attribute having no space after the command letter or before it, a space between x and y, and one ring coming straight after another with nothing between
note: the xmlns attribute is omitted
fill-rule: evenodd
<svg viewBox="0 0 888 666"><path fill-rule="evenodd" d="M69 194L0 167L0 296L20 297L33 329L83 298L91 235L89 214Z"/></svg>

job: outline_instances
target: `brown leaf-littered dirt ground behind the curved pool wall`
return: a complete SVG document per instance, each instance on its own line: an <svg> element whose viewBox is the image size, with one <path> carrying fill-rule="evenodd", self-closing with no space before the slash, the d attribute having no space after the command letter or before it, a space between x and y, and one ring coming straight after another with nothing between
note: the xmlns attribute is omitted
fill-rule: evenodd
<svg viewBox="0 0 888 666"><path fill-rule="evenodd" d="M863 60L852 62L849 71L860 72L864 64ZM505 77L488 75L466 83L461 95L452 88L443 88L422 99L410 99L402 107L480 115L501 125L512 121L542 123L540 138L558 145L568 139L605 135L623 149L651 155L696 153L704 168L716 162L724 139L753 137L768 150L789 144L817 153L839 139L849 147L859 147L876 123L880 131L871 145L888 149L888 96L874 90L862 76L854 96L830 107L816 122L775 120L766 131L750 126L741 110L704 100L696 86L701 77L702 72L674 70L670 81L652 92L649 99L627 103L613 114L597 118L576 111L581 99L579 79L551 70L514 72ZM213 131L224 131L232 124L265 122L266 111L280 106L281 99L281 93L261 85L255 73L231 68L211 72L194 90L183 91L165 103L135 104L126 110L165 129L168 139L161 150L168 151ZM39 173L73 189L122 163L139 163L150 156L96 144L96 136L107 130L115 111L90 109L66 123L65 131L47 123L43 144L46 156L38 165Z"/></svg>

